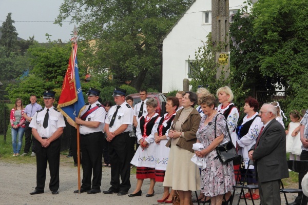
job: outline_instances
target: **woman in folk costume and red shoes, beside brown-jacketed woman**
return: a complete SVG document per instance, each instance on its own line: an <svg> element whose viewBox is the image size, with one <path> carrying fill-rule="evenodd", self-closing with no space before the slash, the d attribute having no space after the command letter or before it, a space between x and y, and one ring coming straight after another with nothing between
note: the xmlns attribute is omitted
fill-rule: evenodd
<svg viewBox="0 0 308 205"><path fill-rule="evenodd" d="M155 166L155 181L163 182L165 178L165 172L168 164L168 156L170 148L166 147L168 142L167 130L171 127L172 120L176 116L176 110L179 107L179 99L177 97L167 97L166 114L159 120L158 128L155 131L156 146L156 166ZM164 188L164 194L160 200L160 203L172 203L172 196L174 190L171 190L169 194L169 187Z"/></svg>

